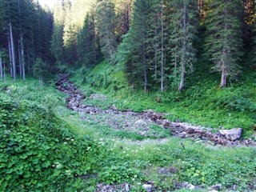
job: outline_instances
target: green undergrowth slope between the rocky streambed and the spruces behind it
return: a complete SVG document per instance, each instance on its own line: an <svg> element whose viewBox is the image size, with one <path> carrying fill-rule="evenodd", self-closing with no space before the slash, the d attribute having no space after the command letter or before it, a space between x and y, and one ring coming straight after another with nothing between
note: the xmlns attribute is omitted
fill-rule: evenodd
<svg viewBox="0 0 256 192"><path fill-rule="evenodd" d="M248 137L255 127L256 73L247 71L246 74L248 76L241 82L220 89L216 74L197 71L186 79L186 90L182 93L176 90L160 93L154 89L145 93L132 89L118 66L102 62L91 70L76 71L72 80L87 96L106 94L105 102L91 102L102 108L114 105L120 110L151 109L168 114L166 117L170 120L179 119L194 125L226 129L242 127L246 130L244 136Z"/></svg>

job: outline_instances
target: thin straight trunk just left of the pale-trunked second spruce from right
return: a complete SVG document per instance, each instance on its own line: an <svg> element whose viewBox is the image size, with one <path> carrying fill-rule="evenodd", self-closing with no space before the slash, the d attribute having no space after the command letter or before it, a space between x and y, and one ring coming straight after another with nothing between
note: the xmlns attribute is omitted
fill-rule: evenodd
<svg viewBox="0 0 256 192"><path fill-rule="evenodd" d="M161 91L164 91L163 0L161 8Z"/></svg>

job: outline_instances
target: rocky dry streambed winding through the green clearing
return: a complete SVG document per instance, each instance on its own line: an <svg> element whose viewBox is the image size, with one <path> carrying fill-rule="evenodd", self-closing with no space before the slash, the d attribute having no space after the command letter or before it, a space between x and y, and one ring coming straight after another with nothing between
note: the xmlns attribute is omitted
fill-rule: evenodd
<svg viewBox="0 0 256 192"><path fill-rule="evenodd" d="M82 104L82 100L86 99L85 94L78 90L65 74L61 75L60 80L55 85L58 90L68 94L66 106L70 110L79 112L86 121L107 125L114 130L125 130L148 136L154 135L155 130L151 127L155 125L170 130L175 137L192 138L198 142L210 142L213 145L221 146L256 146L253 139L239 139L242 134L241 128L219 130L217 133L213 133L210 128L192 126L186 122L170 122L165 118L165 114L158 114L152 110L136 113L131 110L121 111L114 106L102 110L96 106ZM90 99L98 99L101 102L101 99L105 99L105 96L94 94L91 95Z"/></svg>

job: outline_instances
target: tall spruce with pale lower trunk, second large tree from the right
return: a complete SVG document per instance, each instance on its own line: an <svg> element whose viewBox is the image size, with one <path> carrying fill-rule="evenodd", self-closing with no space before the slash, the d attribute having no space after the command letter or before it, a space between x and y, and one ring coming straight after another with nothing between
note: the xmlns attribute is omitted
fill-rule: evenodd
<svg viewBox="0 0 256 192"><path fill-rule="evenodd" d="M196 61L194 40L198 34L198 2L194 0L174 0L170 2L170 44L174 64L174 82L178 90L183 90L185 75L193 71Z"/></svg>

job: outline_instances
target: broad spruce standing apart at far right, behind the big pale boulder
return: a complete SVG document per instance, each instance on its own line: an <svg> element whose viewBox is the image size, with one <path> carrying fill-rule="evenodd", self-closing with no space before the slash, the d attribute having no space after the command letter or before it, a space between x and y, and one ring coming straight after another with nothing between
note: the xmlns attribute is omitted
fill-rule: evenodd
<svg viewBox="0 0 256 192"><path fill-rule="evenodd" d="M240 0L215 0L206 17L206 56L214 62L212 70L221 72L220 87L227 79L237 77L242 56L242 26Z"/></svg>

